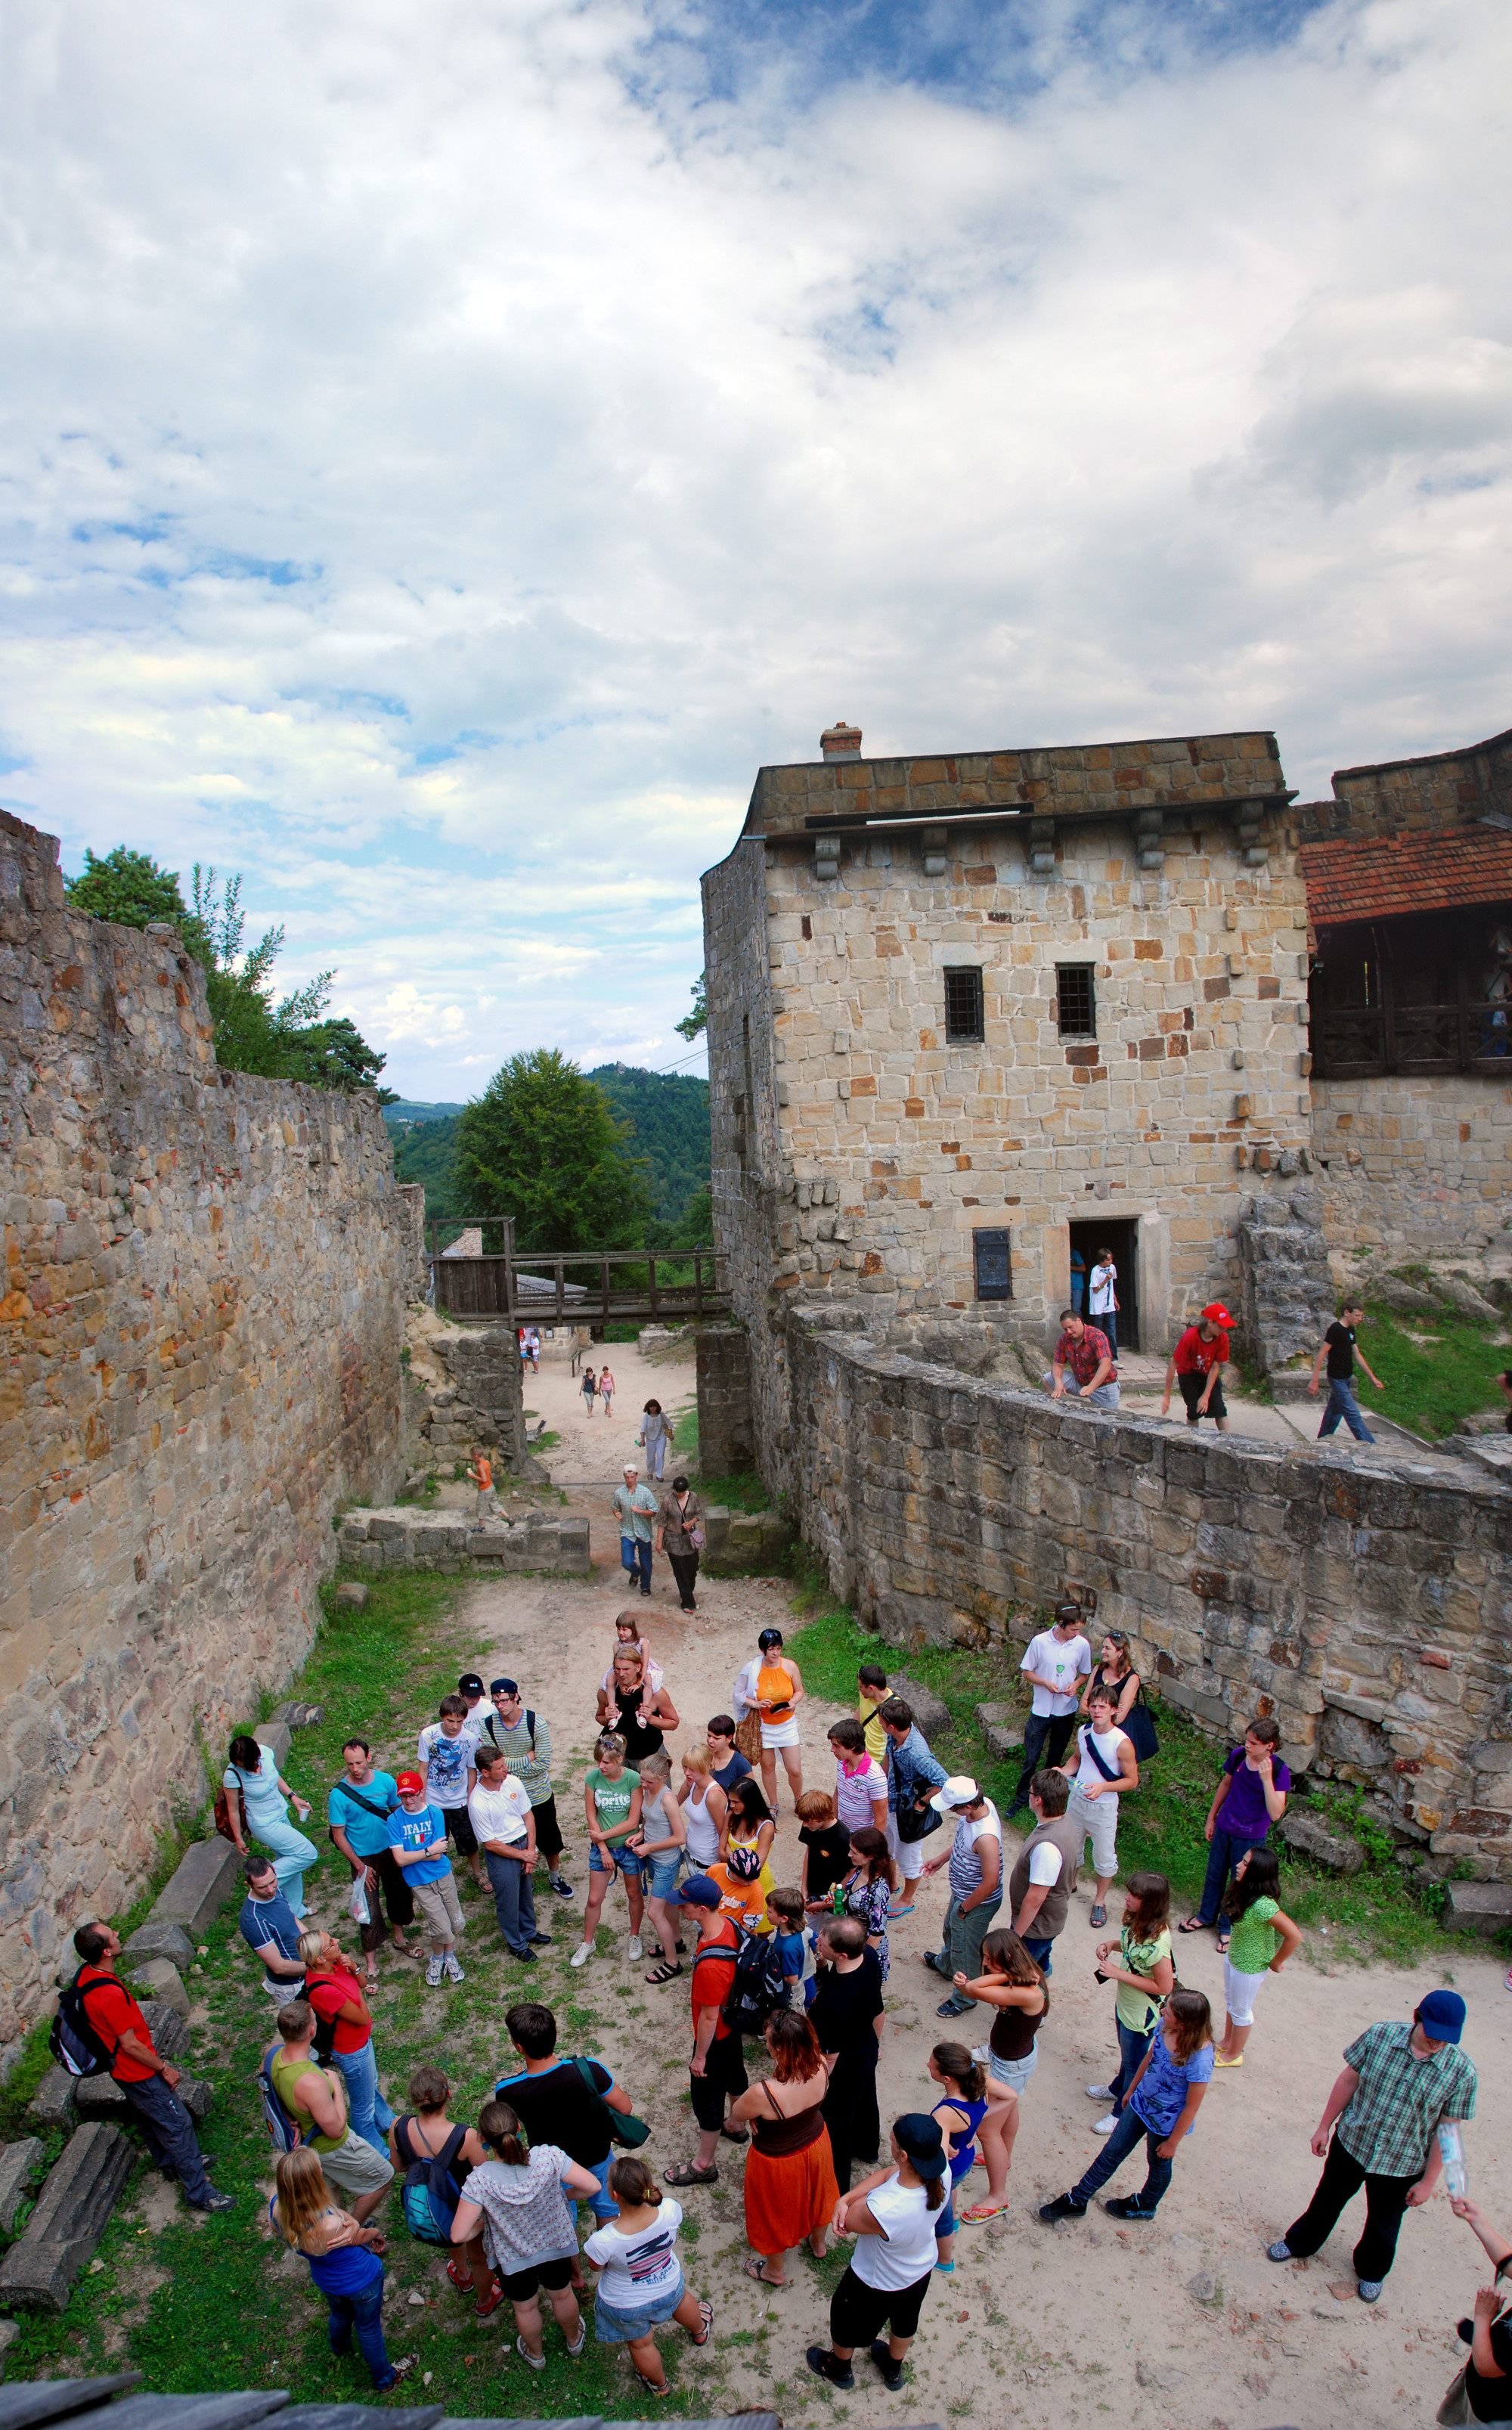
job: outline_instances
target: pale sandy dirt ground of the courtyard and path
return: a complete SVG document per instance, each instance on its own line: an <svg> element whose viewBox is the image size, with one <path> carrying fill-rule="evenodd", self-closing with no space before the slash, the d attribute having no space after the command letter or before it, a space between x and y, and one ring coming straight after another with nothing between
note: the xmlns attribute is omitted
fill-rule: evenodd
<svg viewBox="0 0 1512 2430"><path fill-rule="evenodd" d="M593 1519L593 1582L479 1584L469 1589L467 1621L508 1655L530 1701L552 1718L559 1747L574 1750L571 1767L559 1764L559 1805L579 1900L571 1910L554 1903L554 1915L545 1917L557 1944L542 1951L540 1997L593 2010L608 2063L654 2124L649 2153L666 2165L693 2146L686 2107L688 1978L664 1990L644 1985L647 1968L625 1959L627 1917L617 1891L605 1908L615 1929L613 1956L598 1956L579 1976L566 1971L586 1883L579 1784L593 1689L622 1601L608 1494L622 1460L634 1456L632 1436L647 1395L673 1409L693 1388L690 1368L651 1368L634 1349L610 1346L610 1361L620 1400L608 1424L598 1412L583 1422L576 1380L564 1366L542 1366L525 1390L527 1402L564 1436L547 1465L571 1504ZM676 1754L678 1745L700 1735L712 1711L729 1703L734 1674L754 1652L758 1628L785 1623L788 1609L775 1582L710 1580L698 1618L683 1618L668 1589L666 1565L659 1562L654 1601L639 1609L683 1716L671 1740ZM817 1701L802 1708L805 1776L812 1781L826 1779L824 1728L836 1711ZM1009 1835L1009 1861L1014 1847ZM775 1844L778 1878L795 1878L795 1825L785 1810ZM936 1881L924 1886L916 1912L892 1929L880 2078L885 2119L929 2107L929 2048L960 2031L936 2019L941 1985L919 1963L941 1912L943 1886ZM741 2155L734 2146L722 2148L722 2185L686 2197L688 2214L700 2221L698 2245L686 2253L688 2274L717 2306L715 2335L729 2372L720 2406L778 2403L790 2423L844 2420L853 2411L868 2423L977 2415L1045 2430L1050 2423L1060 2430L1065 2423L1091 2425L1101 2415L1160 2430L1262 2430L1276 2423L1332 2430L1347 2420L1432 2420L1461 2357L1454 2323L1471 2311L1476 2287L1490 2274L1442 2194L1407 2216L1398 2265L1376 2308L1354 2299L1349 2267L1361 2204L1310 2265L1274 2267L1264 2248L1303 2209L1318 2177L1308 2138L1344 2044L1373 2019L1407 2017L1442 1980L1454 1980L1468 2000L1466 2048L1480 2070L1480 2114L1466 2134L1471 2185L1488 2216L1512 2231L1512 1995L1502 1988L1502 1966L1473 1954L1473 1946L1446 1944L1442 1968L1332 1973L1327 1942L1318 1942L1266 1983L1247 2063L1215 2078L1157 2223L1118 2228L1094 2209L1079 2226L1048 2231L1036 2206L1062 2192L1099 2151L1089 2134L1099 2107L1084 2097L1084 2085L1106 2080L1116 2066L1113 1997L1091 1980L1087 1915L1089 1895L1082 1891L1060 1942L1040 2068L1023 2097L1009 2211L992 2226L960 2231L955 2274L933 2282L912 2352L912 2381L897 2396L863 2360L853 2398L831 2398L809 2377L802 2350L824 2335L826 2296L807 2262L795 2265L797 2284L785 2294L763 2294L741 2277ZM1179 1971L1220 2010L1223 1976L1206 1934L1179 1942ZM967 2039L985 2039L985 2022L967 2029ZM970 2019L963 2024L970 2027ZM1130 2192L1138 2182L1128 2168L1108 2192ZM982 2187L985 2177L967 2185ZM1218 2299L1194 2299L1196 2279L1215 2282ZM1155 2381L1157 2372L1164 2384Z"/></svg>

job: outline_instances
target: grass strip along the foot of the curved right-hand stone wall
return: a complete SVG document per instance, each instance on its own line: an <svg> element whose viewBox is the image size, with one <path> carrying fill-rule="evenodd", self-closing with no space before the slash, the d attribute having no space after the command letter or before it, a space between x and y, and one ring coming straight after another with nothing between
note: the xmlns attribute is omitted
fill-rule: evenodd
<svg viewBox="0 0 1512 2430"><path fill-rule="evenodd" d="M800 1665L805 1686L814 1696L831 1696L836 1703L856 1701L858 1662L887 1657L887 1648L858 1628L856 1616L836 1606L826 1582L809 1570L795 1609L802 1628L788 1640L788 1652ZM1019 1645L1009 1652L921 1652L897 1655L897 1669L919 1679L950 1711L950 1730L943 1742L933 1742L933 1754L950 1771L970 1771L985 1784L999 1810L1014 1796L1019 1764L985 1762L982 1733L972 1716L975 1703L1006 1703L1016 1716L1028 1711L1028 1694L1019 1682ZM1164 1874L1172 1883L1179 1915L1196 1908L1208 1847L1203 1823L1223 1747L1203 1737L1172 1706L1152 1699L1160 1754L1145 1767L1145 1786L1123 1805L1118 1815L1118 1874ZM1403 1881L1403 1871L1390 1852L1390 1837L1364 1815L1359 1793L1344 1784L1320 1781L1308 1798L1308 1813L1318 1813L1330 1830L1359 1837L1366 1849L1364 1871L1339 1881L1315 1871L1283 1842L1274 1842L1281 1857L1281 1905L1308 1932L1313 1961L1417 1966L1424 1959L1449 1959L1454 1944L1439 1932L1442 1893L1417 1893ZM1113 1917L1116 1920L1116 1917ZM1327 1939L1322 1937L1327 1927Z"/></svg>

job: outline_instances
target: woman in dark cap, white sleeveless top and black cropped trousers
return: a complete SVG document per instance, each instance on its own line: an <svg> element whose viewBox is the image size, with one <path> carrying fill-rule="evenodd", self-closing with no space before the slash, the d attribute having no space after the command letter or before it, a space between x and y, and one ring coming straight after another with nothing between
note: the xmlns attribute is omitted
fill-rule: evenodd
<svg viewBox="0 0 1512 2430"><path fill-rule="evenodd" d="M829 2301L829 2345L809 2345L807 2364L836 2389L853 2389L858 2345L902 2386L902 2364L919 2330L919 2308L933 2277L933 2221L946 2206L946 2141L924 2112L895 2119L892 2168L863 2177L834 2206L836 2236L853 2236L856 2253ZM882 2347L880 2333L887 2330Z"/></svg>

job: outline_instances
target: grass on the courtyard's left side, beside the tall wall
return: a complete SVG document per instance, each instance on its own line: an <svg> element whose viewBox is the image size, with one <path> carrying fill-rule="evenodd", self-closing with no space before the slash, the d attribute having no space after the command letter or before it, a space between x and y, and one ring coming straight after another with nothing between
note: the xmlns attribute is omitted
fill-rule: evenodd
<svg viewBox="0 0 1512 2430"><path fill-rule="evenodd" d="M297 1694L323 1706L323 1720L294 1735L284 1764L284 1779L316 1803L311 1835L326 1854L309 1878L321 1908L331 1905L328 1883L348 1878L345 1864L328 1852L318 1820L326 1813L326 1788L340 1774L343 1737L355 1730L372 1737L379 1762L394 1769L399 1757L413 1757L416 1728L435 1713L457 1674L493 1650L457 1618L464 1580L394 1572L365 1577L365 1584L369 1601L360 1614L338 1614L326 1597L321 1635L297 1682ZM566 1762L562 1776L566 1779ZM374 1995L374 2039L394 2095L421 2058L440 2058L457 2087L455 2114L474 2119L508 2056L501 2017L506 1968L493 1956L489 1905L464 1895L464 1912L469 1934L476 1937L476 1946L472 1937L462 1944L467 1983L452 1988L442 2007L438 1995L423 1990L418 1968L387 1973ZM117 1922L124 1925L126 1917ZM348 1927L343 1939L355 1944L355 1932ZM603 2034L603 2017L588 2005L596 1985L583 1978L579 2002L569 2005L564 1997L566 1985L576 1990L581 1980L564 1973L574 1939L571 1925L566 1934L557 1925L557 1946L542 1951L552 1963L540 1968L545 1980L532 1995L554 2000L576 2048L591 2051ZM241 1944L233 1908L209 1927L204 1942L209 1954L190 1988L194 2000L204 2000L209 2022L194 2034L192 2068L214 2078L216 2107L199 2141L214 2182L236 2197L236 2209L192 2221L175 2204L168 2223L151 2228L143 2223L141 2194L156 2199L158 2180L139 2160L100 2240L102 2267L85 2272L58 2318L22 2316L5 2377L56 2379L134 2367L156 2391L277 2386L294 2389L301 2403L374 2403L360 2355L340 2362L331 2357L326 2311L304 2262L294 2262L265 2233L272 2153L253 2070L272 2039L272 2022L260 1968ZM503 1990L506 1997L518 1995L513 1980ZM46 2066L46 2027L36 2029L32 2044L36 2048L27 2048L7 2085L7 2097L17 2102ZM19 2126L7 2124L5 2131ZM491 2321L476 2323L445 2284L445 2255L406 2236L396 2199L389 2202L384 2267L394 2289L384 2306L389 2352L418 2355L418 2369L389 2403L503 2418L518 2415L520 2406L532 2415L600 2413L620 2420L688 2413L707 2418L727 2411L717 2364L710 2372L705 2360L690 2369L681 2330L664 2340L671 2398L644 2396L625 2362L593 2340L593 2330L583 2360L569 2362L559 2335L547 2328L547 2369L530 2374L525 2384L510 2306L503 2304ZM423 2304L411 2306L411 2291ZM433 2374L430 2386L423 2374Z"/></svg>

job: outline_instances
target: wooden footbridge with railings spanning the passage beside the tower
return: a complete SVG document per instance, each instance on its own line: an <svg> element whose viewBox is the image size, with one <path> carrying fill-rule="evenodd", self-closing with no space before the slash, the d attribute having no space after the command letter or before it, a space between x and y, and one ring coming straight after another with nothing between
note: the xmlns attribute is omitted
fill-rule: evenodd
<svg viewBox="0 0 1512 2430"><path fill-rule="evenodd" d="M469 1230L503 1237L484 1256L440 1249L430 1225L435 1305L450 1317L501 1317L506 1324L686 1324L729 1315L717 1288L715 1251L537 1249L515 1251L513 1220L464 1217ZM452 1230L452 1225L447 1225Z"/></svg>

